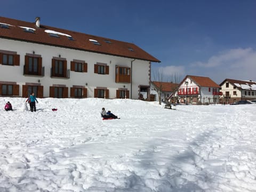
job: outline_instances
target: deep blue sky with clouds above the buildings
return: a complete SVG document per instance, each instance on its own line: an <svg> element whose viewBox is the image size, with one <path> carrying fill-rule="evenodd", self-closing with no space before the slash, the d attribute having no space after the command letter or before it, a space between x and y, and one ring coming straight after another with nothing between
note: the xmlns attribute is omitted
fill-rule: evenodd
<svg viewBox="0 0 256 192"><path fill-rule="evenodd" d="M2 17L130 42L169 74L256 81L254 0L8 0Z"/></svg>

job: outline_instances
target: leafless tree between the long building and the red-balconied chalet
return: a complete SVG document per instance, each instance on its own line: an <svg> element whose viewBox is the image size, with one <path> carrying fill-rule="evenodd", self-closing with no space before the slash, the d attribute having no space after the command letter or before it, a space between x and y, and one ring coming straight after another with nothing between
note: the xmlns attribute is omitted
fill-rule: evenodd
<svg viewBox="0 0 256 192"><path fill-rule="evenodd" d="M161 94L164 94L164 100L166 102L166 93L163 92L163 86L160 83L159 86L156 86L153 81L156 82L170 82L170 83L180 83L181 81L181 75L178 75L177 73L173 73L173 74L166 74L164 73L163 68L159 69L153 69L151 71L151 85L154 86L154 89L157 91L158 94L158 101L159 101L159 105L161 105ZM178 88L177 88L178 89ZM175 89L175 91L177 91L177 89Z"/></svg>

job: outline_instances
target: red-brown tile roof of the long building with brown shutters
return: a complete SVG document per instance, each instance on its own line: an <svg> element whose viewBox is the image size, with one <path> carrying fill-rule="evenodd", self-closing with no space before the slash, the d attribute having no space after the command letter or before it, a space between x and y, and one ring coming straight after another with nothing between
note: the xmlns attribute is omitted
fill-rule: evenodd
<svg viewBox="0 0 256 192"><path fill-rule="evenodd" d="M60 46L69 49L116 55L119 57L146 60L152 62L161 62L133 43L117 41L114 39L94 35L87 35L75 31L49 27L45 25L40 25L40 27L38 28L35 26L35 22L26 22L4 17L0 17L0 23L6 23L10 25L9 29L0 28L0 38ZM24 32L24 29L21 27L33 28L35 29L35 33ZM71 37L73 37L74 41L69 40L68 37L65 35L59 35L59 38L51 37L48 33L45 32L45 30L53 30L59 33L70 35ZM93 42L90 42L89 39L94 39L98 41L98 43L100 43L101 45L95 45L93 44ZM107 43L106 40L110 41L111 43ZM129 48L131 48L133 51L130 51Z"/></svg>

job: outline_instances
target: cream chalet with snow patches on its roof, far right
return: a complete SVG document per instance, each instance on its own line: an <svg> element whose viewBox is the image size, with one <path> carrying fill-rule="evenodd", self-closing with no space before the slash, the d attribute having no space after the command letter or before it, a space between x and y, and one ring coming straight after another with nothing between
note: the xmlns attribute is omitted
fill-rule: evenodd
<svg viewBox="0 0 256 192"><path fill-rule="evenodd" d="M225 79L221 84L220 102L232 103L240 100L256 99L256 82Z"/></svg>

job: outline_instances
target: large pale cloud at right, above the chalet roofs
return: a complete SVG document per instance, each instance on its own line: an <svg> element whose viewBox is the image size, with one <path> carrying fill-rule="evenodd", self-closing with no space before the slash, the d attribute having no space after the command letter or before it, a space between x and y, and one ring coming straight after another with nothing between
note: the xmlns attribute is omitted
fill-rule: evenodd
<svg viewBox="0 0 256 192"><path fill-rule="evenodd" d="M255 81L255 62L256 51L252 48L231 49L213 55L207 62L190 63L188 71L197 73L194 75L208 76L216 82L221 82L225 78L252 79ZM186 72L188 73L188 71Z"/></svg>

